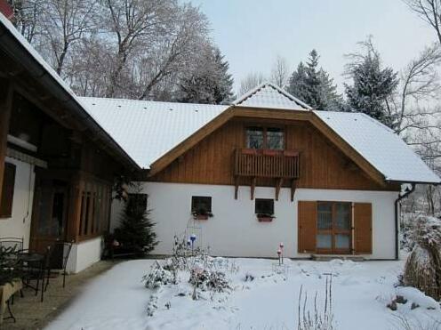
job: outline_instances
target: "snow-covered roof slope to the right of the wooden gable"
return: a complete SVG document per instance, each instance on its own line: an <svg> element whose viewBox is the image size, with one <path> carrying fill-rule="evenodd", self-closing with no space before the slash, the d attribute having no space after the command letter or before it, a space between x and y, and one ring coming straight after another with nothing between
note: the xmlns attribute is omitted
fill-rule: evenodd
<svg viewBox="0 0 441 330"><path fill-rule="evenodd" d="M441 182L405 141L373 118L363 113L314 113L382 173L386 181Z"/></svg>

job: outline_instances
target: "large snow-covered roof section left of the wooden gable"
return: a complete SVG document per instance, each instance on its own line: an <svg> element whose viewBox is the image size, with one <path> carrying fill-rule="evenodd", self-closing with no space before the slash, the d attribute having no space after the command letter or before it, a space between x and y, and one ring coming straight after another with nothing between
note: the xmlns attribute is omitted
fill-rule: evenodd
<svg viewBox="0 0 441 330"><path fill-rule="evenodd" d="M80 99L101 127L146 169L229 108L191 103Z"/></svg>

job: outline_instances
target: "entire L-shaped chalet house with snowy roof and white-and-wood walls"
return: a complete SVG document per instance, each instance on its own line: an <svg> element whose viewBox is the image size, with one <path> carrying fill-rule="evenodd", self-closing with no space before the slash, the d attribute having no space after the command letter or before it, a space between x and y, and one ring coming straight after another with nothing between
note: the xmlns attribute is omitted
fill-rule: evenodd
<svg viewBox="0 0 441 330"><path fill-rule="evenodd" d="M440 183L384 125L271 84L231 105L77 97L0 13L0 237L72 241L84 270L118 225L120 175L140 181L155 254L194 234L257 257L397 258L402 184Z"/></svg>

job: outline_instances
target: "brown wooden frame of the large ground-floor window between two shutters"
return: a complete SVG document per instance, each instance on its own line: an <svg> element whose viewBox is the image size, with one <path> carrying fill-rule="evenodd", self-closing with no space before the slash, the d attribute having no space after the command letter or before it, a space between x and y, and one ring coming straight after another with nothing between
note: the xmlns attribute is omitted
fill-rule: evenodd
<svg viewBox="0 0 441 330"><path fill-rule="evenodd" d="M324 213L325 211L320 211L319 206L321 204L331 204L331 212L326 211L326 213L331 213L331 229L318 229L318 217L320 213ZM346 204L349 205L349 229L339 229L337 227L337 212L336 205L338 204ZM347 201L317 201L317 231L316 231L316 248L318 254L351 254L353 249L352 242L352 229L353 229L353 212L352 212L353 204L352 202ZM347 235L349 236L349 247L348 249L337 248L336 245L336 236L337 235ZM331 235L331 248L319 248L317 247L317 236L318 235Z"/></svg>

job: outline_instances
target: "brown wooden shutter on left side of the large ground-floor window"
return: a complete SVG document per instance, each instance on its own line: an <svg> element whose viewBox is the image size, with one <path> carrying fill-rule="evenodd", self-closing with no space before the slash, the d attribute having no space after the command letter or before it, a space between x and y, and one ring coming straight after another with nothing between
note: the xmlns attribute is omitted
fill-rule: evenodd
<svg viewBox="0 0 441 330"><path fill-rule="evenodd" d="M299 253L315 253L317 234L317 202L299 201L298 226Z"/></svg>

